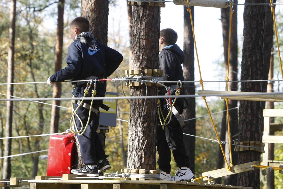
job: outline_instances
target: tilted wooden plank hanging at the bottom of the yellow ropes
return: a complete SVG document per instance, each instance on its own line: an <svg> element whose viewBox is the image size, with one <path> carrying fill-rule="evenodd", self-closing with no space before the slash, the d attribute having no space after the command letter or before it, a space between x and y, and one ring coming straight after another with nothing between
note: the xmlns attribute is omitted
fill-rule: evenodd
<svg viewBox="0 0 283 189"><path fill-rule="evenodd" d="M228 175L234 175L237 173L243 173L246 171L251 171L250 166L251 165L259 165L258 161L254 161L254 162L249 162L249 163L244 163L244 164L240 164L240 165L235 165L233 167L231 167L231 171L228 171L227 168L222 168L222 169L216 169L213 171L207 171L202 173L202 176L207 176L209 175L209 179L216 179L219 177L224 177L224 176L228 176ZM258 167L254 167L255 169ZM209 180L206 177L203 178L203 180Z"/></svg>

